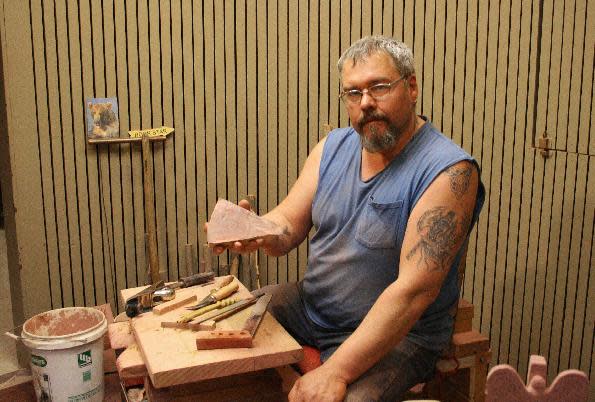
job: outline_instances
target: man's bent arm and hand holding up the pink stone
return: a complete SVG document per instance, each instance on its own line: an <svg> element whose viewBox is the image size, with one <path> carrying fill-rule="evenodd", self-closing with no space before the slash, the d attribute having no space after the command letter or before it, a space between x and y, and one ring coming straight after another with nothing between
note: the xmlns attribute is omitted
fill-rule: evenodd
<svg viewBox="0 0 595 402"><path fill-rule="evenodd" d="M272 256L287 254L298 246L308 235L312 227L312 200L318 186L318 172L320 158L326 138L322 139L312 150L295 184L287 197L273 210L263 217L277 223L283 228L281 236L259 238L248 243L235 242L230 249L238 253L249 253L262 248ZM249 208L247 201L240 201L240 206ZM222 246L217 246L214 252L223 252Z"/></svg>

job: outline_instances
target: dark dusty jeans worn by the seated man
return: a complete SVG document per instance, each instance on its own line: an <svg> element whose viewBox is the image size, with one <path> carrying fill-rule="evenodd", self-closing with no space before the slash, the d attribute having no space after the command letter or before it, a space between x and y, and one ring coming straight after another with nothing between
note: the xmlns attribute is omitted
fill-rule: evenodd
<svg viewBox="0 0 595 402"><path fill-rule="evenodd" d="M306 314L299 283L266 286L254 293L271 293L273 297L268 308L271 314L300 344L318 348L322 361L351 335L351 331L333 331L312 322ZM432 377L439 357L440 352L405 338L349 384L345 401L399 401L415 384Z"/></svg>

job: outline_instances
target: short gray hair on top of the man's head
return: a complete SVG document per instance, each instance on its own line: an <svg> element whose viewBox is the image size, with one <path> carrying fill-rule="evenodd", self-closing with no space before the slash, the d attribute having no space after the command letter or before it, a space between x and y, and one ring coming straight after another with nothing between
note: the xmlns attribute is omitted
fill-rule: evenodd
<svg viewBox="0 0 595 402"><path fill-rule="evenodd" d="M415 74L411 49L403 42L380 35L362 38L345 50L337 62L339 74L343 73L346 61L352 60L355 65L377 52L388 54L402 77Z"/></svg>

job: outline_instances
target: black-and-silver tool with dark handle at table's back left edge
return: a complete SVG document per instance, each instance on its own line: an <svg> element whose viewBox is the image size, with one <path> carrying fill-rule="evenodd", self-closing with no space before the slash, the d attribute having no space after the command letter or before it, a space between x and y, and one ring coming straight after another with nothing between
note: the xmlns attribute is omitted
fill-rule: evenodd
<svg viewBox="0 0 595 402"><path fill-rule="evenodd" d="M204 272L186 278L180 278L179 281L170 283L167 286L163 281L159 281L126 300L126 315L132 318L151 311L154 306L173 300L176 297L175 289L199 285L212 280L214 277L215 274L213 272Z"/></svg>

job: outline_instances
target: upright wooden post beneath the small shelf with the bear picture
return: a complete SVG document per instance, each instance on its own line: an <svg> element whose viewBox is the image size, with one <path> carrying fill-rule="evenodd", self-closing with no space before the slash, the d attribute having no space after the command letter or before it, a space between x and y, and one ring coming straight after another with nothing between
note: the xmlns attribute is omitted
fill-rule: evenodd
<svg viewBox="0 0 595 402"><path fill-rule="evenodd" d="M155 228L155 194L153 186L153 158L149 137L142 139L143 149L143 189L145 192L145 224L149 238L149 265L151 282L160 281L159 258L157 256L157 229Z"/></svg>

